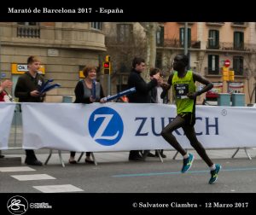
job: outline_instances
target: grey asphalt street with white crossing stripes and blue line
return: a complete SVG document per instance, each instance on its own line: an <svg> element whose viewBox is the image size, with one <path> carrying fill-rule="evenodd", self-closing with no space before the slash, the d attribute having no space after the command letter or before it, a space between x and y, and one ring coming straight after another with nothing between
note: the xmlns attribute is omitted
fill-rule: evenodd
<svg viewBox="0 0 256 215"><path fill-rule="evenodd" d="M256 150L247 150L252 160L247 158L243 149L231 159L235 151L207 150L214 163L222 166L217 183L212 185L208 184L210 171L195 151L189 151L195 155L195 160L191 169L184 174L180 173L181 156L177 155L176 160L172 160L174 151L165 152L167 158L163 163L158 158L147 158L143 162L128 161L128 152L95 153L97 166L85 164L85 157L79 164L70 165L67 162L68 152L62 152L65 167L61 166L57 151L54 151L47 166L26 166L23 150L3 151L6 158L20 157L21 164L1 166L0 160L0 193L256 193ZM37 155L44 162L48 150L38 150ZM6 169L9 167L30 168ZM30 175L36 177L30 178ZM38 189L63 184L76 189Z"/></svg>

